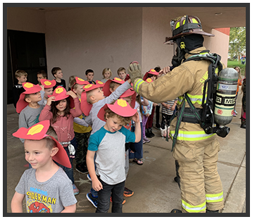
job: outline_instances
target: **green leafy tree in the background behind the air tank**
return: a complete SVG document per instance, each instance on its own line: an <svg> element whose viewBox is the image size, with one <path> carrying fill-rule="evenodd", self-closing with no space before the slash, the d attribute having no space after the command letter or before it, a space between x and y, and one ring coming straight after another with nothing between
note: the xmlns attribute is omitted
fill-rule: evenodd
<svg viewBox="0 0 257 224"><path fill-rule="evenodd" d="M246 27L230 28L230 58L241 56L246 52Z"/></svg>

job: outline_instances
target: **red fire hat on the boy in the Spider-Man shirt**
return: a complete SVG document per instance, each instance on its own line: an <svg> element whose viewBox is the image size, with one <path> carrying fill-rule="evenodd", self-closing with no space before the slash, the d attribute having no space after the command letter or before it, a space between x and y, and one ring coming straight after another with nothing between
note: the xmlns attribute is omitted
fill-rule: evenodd
<svg viewBox="0 0 257 224"><path fill-rule="evenodd" d="M43 120L29 128L20 127L20 129L18 129L17 132L13 133L13 136L30 140L41 140L44 139L44 137L46 136L51 137L51 139L53 139L54 142L56 142L56 145L58 147L57 154L53 156L54 161L67 168L71 168L70 158L68 157L65 149L63 149L61 144L54 137L46 135L49 126L50 120Z"/></svg>

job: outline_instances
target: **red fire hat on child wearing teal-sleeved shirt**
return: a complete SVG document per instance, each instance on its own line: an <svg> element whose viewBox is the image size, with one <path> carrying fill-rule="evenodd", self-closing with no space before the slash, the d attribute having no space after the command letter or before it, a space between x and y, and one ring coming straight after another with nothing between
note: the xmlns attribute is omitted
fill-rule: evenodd
<svg viewBox="0 0 257 224"><path fill-rule="evenodd" d="M105 109L109 108L114 113L118 114L119 116L123 117L131 117L137 113L137 109L131 108L130 104L127 104L127 101L124 99L117 99L114 104L105 104L97 114L98 118L101 120L106 121L105 119Z"/></svg>

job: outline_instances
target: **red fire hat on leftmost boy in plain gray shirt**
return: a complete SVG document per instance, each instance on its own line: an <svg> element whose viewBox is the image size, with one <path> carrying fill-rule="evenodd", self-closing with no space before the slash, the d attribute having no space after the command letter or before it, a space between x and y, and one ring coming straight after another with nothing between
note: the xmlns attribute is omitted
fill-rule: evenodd
<svg viewBox="0 0 257 224"><path fill-rule="evenodd" d="M23 88L25 89L25 92L20 94L20 99L16 104L17 113L20 113L20 111L22 111L28 105L28 103L24 100L25 94L33 94L42 90L42 87L39 85L34 85L30 82L23 82Z"/></svg>

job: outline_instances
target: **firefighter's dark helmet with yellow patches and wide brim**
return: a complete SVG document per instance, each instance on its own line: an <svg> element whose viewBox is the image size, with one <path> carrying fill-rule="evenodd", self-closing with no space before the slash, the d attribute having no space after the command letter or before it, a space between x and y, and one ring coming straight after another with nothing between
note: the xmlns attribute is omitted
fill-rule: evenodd
<svg viewBox="0 0 257 224"><path fill-rule="evenodd" d="M170 21L170 27L173 32L173 37L170 37L167 40L173 40L191 34L214 37L213 34L202 30L201 21L194 15L184 15L173 19Z"/></svg>

